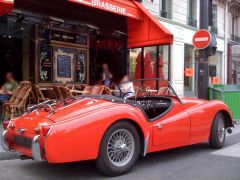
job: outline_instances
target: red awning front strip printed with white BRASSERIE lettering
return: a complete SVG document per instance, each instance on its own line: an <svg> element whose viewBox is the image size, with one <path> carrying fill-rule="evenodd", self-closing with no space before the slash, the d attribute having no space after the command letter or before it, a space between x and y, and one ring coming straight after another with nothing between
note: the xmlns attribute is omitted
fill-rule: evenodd
<svg viewBox="0 0 240 180"><path fill-rule="evenodd" d="M141 12L136 6L128 0L125 2L113 0L68 0L75 3L84 4L86 6L94 7L97 9L105 10L115 14L132 17L135 19L141 18Z"/></svg>

